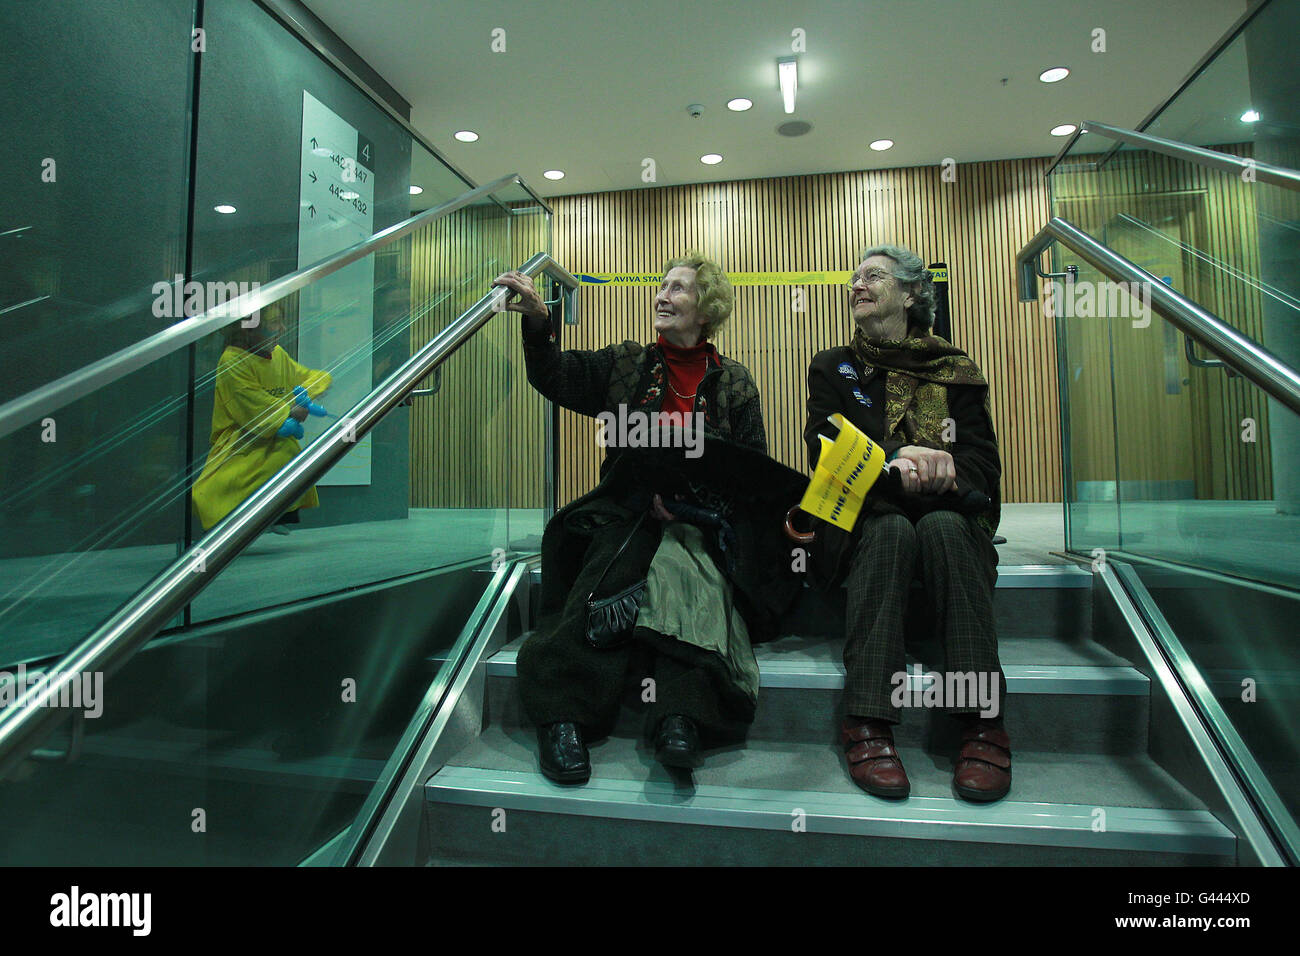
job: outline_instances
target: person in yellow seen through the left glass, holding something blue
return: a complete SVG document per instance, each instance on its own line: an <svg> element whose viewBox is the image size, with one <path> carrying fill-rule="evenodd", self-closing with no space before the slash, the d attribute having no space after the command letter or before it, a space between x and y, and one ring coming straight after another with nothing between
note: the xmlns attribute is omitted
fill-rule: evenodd
<svg viewBox="0 0 1300 956"><path fill-rule="evenodd" d="M276 345L281 329L274 320L266 324L244 329L235 323L226 330L226 349L217 362L211 450L194 483L194 510L205 531L302 450L296 438L287 437L302 436L302 427L290 420L302 423L309 414L308 406L295 402L294 388L303 386L315 401L333 381L329 372L289 358ZM286 516L318 505L316 489L309 488Z"/></svg>

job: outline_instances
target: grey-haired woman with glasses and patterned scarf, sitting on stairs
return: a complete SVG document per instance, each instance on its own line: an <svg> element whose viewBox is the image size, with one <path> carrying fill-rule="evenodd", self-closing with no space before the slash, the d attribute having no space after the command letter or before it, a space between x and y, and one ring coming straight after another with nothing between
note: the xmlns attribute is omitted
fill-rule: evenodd
<svg viewBox="0 0 1300 956"><path fill-rule="evenodd" d="M988 382L961 349L932 334L933 281L914 252L866 250L848 304L850 343L819 352L809 368L809 457L815 464L819 436L835 436L828 416L840 412L884 447L904 489L868 498L852 533L827 523L816 528L818 576L848 588L841 743L849 774L876 796L906 797L911 790L893 724L901 706L915 704L905 676L904 614L919 576L944 648L944 689L966 691L941 701L962 724L953 787L966 800L998 800L1010 791L1011 749L993 624L1001 463ZM989 505L962 514L959 496L972 490ZM987 692L968 693L976 687Z"/></svg>

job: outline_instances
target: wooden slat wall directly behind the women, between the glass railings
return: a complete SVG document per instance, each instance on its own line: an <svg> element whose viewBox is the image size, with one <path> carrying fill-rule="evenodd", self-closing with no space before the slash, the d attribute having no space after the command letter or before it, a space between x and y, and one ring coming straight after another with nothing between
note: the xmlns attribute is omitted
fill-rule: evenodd
<svg viewBox="0 0 1300 956"><path fill-rule="evenodd" d="M555 258L572 272L658 272L698 248L729 272L852 271L858 252L892 242L950 271L953 338L992 385L1004 501L1060 501L1054 332L1037 304L1017 302L1015 254L1048 217L1045 160L647 187L566 196L555 208ZM770 451L805 471L805 376L812 355L848 342L845 293L741 286L718 349L744 363L763 399ZM584 286L582 320L564 347L650 341L654 290ZM559 499L594 486L603 451L595 423L562 412Z"/></svg>

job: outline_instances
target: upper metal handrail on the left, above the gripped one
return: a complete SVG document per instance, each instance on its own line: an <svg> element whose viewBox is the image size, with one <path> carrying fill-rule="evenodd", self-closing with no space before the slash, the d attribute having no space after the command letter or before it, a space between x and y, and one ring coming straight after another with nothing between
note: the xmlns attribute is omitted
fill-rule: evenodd
<svg viewBox="0 0 1300 956"><path fill-rule="evenodd" d="M38 389L32 389L18 398L5 402L0 405L0 438L12 434L23 425L39 421L46 415L70 402L75 402L78 398L84 398L131 372L170 355L177 349L183 349L212 332L250 316L257 310L265 308L273 302L278 302L286 295L291 295L333 272L338 272L358 259L364 259L376 250L410 235L416 229L421 229L434 220L448 216L456 209L462 209L478 199L485 199L493 193L514 183L519 183L532 194L532 190L524 185L519 173L503 176L485 186L463 193L441 206L434 206L387 229L382 229L370 238L361 239L341 252L326 256L311 265L304 265L296 272L273 280L229 302L213 306L202 315L169 325L148 338L120 349L112 355L105 355L103 359L78 368L75 372L69 372L61 378L56 378L52 382L47 382Z"/></svg>

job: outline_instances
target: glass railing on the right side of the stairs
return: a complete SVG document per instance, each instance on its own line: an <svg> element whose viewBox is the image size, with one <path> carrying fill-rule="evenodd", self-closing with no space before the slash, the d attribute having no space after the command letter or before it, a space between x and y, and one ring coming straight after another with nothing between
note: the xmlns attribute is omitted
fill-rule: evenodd
<svg viewBox="0 0 1300 956"><path fill-rule="evenodd" d="M1262 8L1145 131L1295 168L1295 105L1270 91L1283 88L1279 38L1294 35L1280 25L1297 16L1297 3ZM1251 173L1084 134L1050 174L1052 212L1262 346L1294 381L1300 193ZM1190 341L1152 302L1156 286L1115 282L1082 252L1053 245L1043 293L1067 548L1132 568L1164 652L1294 858L1300 415Z"/></svg>

